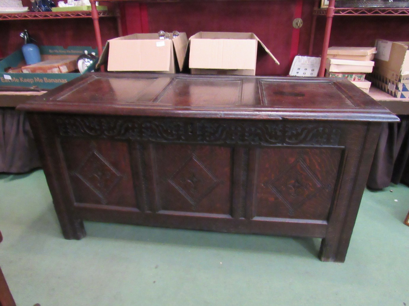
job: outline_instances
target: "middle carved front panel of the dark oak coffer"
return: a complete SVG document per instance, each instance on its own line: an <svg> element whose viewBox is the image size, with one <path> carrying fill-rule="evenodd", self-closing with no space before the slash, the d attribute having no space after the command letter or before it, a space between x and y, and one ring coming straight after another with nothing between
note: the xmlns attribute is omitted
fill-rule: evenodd
<svg viewBox="0 0 409 306"><path fill-rule="evenodd" d="M231 214L231 149L151 146L155 199L160 211Z"/></svg>

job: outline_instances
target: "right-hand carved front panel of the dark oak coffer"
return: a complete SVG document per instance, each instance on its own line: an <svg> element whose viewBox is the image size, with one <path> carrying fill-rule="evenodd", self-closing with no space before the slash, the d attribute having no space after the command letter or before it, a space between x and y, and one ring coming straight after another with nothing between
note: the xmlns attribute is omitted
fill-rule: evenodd
<svg viewBox="0 0 409 306"><path fill-rule="evenodd" d="M342 149L257 149L253 217L327 220Z"/></svg>

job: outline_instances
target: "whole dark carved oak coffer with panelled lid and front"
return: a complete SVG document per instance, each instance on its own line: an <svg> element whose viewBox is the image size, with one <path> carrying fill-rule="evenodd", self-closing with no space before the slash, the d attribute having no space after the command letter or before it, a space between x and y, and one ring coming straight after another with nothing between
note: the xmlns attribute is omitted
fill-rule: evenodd
<svg viewBox="0 0 409 306"><path fill-rule="evenodd" d="M67 239L83 220L320 237L336 262L398 121L326 78L93 73L18 109Z"/></svg>

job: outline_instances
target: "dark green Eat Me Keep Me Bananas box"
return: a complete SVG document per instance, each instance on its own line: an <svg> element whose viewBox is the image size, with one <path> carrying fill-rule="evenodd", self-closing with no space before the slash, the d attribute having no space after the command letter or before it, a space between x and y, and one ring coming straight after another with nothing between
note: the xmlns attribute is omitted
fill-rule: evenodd
<svg viewBox="0 0 409 306"><path fill-rule="evenodd" d="M61 46L40 46L41 60L52 60L61 58L76 58L83 54L85 50L89 53L97 50L91 47L68 47L64 49ZM85 71L92 71L96 62ZM38 86L40 89L53 89L61 84L67 83L81 75L81 73L22 73L21 67L25 66L24 56L21 50L18 50L2 61L0 61L0 86L20 86L32 87ZM12 69L11 72L9 67ZM9 71L9 72L6 72Z"/></svg>

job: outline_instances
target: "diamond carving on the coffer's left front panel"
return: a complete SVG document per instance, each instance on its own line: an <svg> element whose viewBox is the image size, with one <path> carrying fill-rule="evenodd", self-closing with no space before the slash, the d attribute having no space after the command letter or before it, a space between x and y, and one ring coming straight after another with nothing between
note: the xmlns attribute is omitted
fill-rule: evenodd
<svg viewBox="0 0 409 306"><path fill-rule="evenodd" d="M90 187L101 198L103 204L107 202L108 193L122 178L115 167L94 147L73 174Z"/></svg>

